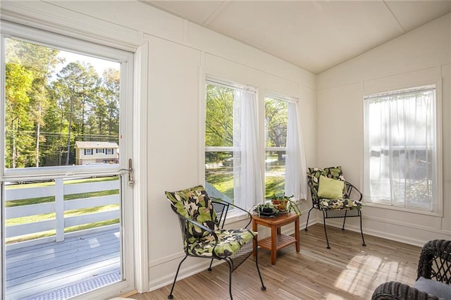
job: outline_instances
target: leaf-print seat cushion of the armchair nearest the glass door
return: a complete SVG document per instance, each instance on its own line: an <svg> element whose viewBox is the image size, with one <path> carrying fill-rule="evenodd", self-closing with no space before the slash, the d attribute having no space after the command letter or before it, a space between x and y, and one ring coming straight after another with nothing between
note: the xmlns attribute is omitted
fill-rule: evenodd
<svg viewBox="0 0 451 300"><path fill-rule="evenodd" d="M234 229L234 230L215 230L218 236L218 244L215 247L213 235L207 235L200 239L192 237L185 242L185 251L188 255L226 258L240 250L243 244L251 241L254 235L252 230Z"/></svg>

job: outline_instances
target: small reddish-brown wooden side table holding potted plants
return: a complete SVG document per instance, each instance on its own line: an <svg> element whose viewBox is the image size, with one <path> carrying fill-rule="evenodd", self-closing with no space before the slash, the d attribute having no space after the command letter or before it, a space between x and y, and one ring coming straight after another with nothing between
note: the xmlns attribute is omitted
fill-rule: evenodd
<svg viewBox="0 0 451 300"><path fill-rule="evenodd" d="M282 235L280 227L295 222L295 237ZM287 213L274 218L264 218L252 215L252 230L257 231L258 225L271 228L271 237L266 237L258 241L258 246L271 251L271 264L276 264L277 251L285 246L296 243L296 252L299 252L299 215ZM257 245L254 244L254 249ZM255 251L254 251L255 255Z"/></svg>

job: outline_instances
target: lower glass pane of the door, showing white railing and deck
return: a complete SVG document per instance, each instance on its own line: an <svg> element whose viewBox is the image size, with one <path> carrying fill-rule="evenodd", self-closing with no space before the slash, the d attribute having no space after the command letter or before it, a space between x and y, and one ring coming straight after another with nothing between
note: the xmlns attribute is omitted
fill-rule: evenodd
<svg viewBox="0 0 451 300"><path fill-rule="evenodd" d="M6 182L6 299L66 299L122 280L120 182Z"/></svg>

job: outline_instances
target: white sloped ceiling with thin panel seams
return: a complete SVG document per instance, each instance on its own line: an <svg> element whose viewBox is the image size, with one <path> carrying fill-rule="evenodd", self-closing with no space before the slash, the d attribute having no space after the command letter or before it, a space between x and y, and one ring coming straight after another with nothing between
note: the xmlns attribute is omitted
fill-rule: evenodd
<svg viewBox="0 0 451 300"><path fill-rule="evenodd" d="M451 12L451 0L143 2L315 74Z"/></svg>

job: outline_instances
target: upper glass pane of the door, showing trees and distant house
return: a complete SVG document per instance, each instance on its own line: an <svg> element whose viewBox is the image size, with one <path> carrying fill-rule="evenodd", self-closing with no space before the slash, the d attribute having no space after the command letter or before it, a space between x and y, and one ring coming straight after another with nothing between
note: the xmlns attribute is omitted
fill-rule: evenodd
<svg viewBox="0 0 451 300"><path fill-rule="evenodd" d="M5 167L117 163L120 63L4 40Z"/></svg>

